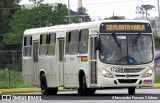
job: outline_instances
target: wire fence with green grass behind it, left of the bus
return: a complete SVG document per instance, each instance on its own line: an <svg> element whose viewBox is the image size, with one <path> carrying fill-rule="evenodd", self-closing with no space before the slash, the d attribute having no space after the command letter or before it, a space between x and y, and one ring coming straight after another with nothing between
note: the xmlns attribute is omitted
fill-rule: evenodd
<svg viewBox="0 0 160 103"><path fill-rule="evenodd" d="M21 50L0 51L0 88L23 85Z"/></svg>

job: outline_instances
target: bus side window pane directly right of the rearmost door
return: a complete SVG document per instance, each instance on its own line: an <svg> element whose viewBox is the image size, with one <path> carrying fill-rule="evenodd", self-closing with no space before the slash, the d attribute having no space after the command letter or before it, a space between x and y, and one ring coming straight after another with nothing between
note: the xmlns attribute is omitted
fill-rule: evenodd
<svg viewBox="0 0 160 103"><path fill-rule="evenodd" d="M47 55L47 34L40 35L39 54Z"/></svg>

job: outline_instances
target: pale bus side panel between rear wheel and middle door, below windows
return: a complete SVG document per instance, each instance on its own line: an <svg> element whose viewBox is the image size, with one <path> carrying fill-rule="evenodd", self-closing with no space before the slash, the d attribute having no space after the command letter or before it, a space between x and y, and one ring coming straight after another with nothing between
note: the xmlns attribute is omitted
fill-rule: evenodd
<svg viewBox="0 0 160 103"><path fill-rule="evenodd" d="M53 57L40 57L39 69L45 72L48 87L57 87L56 77L56 60Z"/></svg>

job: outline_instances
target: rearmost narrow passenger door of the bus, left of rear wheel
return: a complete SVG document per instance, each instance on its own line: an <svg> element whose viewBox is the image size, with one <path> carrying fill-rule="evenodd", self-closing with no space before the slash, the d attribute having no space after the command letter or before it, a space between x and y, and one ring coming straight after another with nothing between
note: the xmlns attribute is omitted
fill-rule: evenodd
<svg viewBox="0 0 160 103"><path fill-rule="evenodd" d="M33 41L33 85L38 85L38 45L39 41Z"/></svg>

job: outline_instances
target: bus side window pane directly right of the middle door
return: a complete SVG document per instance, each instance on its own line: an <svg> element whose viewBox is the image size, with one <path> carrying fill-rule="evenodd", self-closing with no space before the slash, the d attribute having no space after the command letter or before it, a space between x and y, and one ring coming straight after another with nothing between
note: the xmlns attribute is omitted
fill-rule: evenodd
<svg viewBox="0 0 160 103"><path fill-rule="evenodd" d="M77 54L79 44L79 31L70 31L68 37L68 54Z"/></svg>

